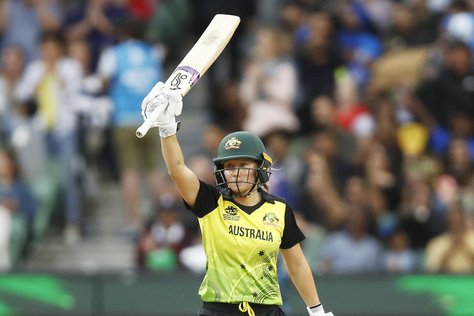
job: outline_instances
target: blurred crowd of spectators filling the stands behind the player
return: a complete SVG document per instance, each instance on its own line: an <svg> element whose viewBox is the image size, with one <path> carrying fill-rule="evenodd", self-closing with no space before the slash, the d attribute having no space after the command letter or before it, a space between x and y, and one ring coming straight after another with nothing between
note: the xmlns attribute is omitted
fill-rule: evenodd
<svg viewBox="0 0 474 316"><path fill-rule="evenodd" d="M226 134L253 132L316 273L473 273L473 11L473 0L0 0L0 270L58 209L64 241L80 242L107 181L121 186L138 266L203 269L158 135L134 131L163 69L228 13L241 23L206 73L210 121L187 158L198 177L214 183Z"/></svg>

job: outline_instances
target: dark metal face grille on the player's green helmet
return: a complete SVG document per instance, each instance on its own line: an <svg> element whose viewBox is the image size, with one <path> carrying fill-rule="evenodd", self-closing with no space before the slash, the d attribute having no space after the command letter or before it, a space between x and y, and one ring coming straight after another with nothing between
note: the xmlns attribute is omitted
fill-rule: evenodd
<svg viewBox="0 0 474 316"><path fill-rule="evenodd" d="M215 171L214 171L214 176L216 178L216 184L217 185L216 185L215 188L219 190L219 193L223 197L234 198L234 197L245 197L245 196L250 195L252 192L256 191L258 188L260 188L265 183L267 183L268 179L270 177L270 174L272 173L271 168L269 166L265 166L266 165L265 161L266 160L264 160L262 162L262 165L259 168L228 168L228 169L224 169L222 164L216 165ZM247 173L246 181L237 181L237 182L228 181L226 179L226 176L225 176L224 172L229 171L229 170L237 170L237 179L238 179L238 176L239 176L240 172L246 172ZM257 171L256 172L256 177L253 181L252 181L252 179L250 179L250 170L256 170ZM230 183L237 184L237 192L232 191L229 188ZM253 186L248 192L242 193L242 192L240 192L238 184L244 184L244 183L249 183L249 184L252 184Z"/></svg>

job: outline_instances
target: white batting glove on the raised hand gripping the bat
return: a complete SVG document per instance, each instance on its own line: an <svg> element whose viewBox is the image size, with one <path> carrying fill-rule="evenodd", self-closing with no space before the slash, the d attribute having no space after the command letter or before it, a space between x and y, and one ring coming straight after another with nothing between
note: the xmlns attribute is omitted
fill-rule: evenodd
<svg viewBox="0 0 474 316"><path fill-rule="evenodd" d="M152 112L162 107L162 113L153 122L152 127L158 127L161 137L168 137L176 133L180 122L176 122L176 116L181 114L183 108L183 97L178 91L167 91L164 83L159 81L142 102L143 119L150 117Z"/></svg>

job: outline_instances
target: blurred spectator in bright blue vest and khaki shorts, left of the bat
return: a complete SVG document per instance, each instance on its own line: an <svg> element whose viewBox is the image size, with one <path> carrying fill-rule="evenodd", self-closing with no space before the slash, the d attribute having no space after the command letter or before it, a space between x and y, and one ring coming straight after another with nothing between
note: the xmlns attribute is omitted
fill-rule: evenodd
<svg viewBox="0 0 474 316"><path fill-rule="evenodd" d="M99 61L98 73L114 103L112 124L117 149L121 188L128 214L127 234L135 234L141 222L140 171L146 171L153 198L160 191L162 173L158 168L157 131L147 137L135 136L143 122L137 105L148 91L162 79L160 55L156 49L141 40L143 23L127 19L120 23L120 43L105 50Z"/></svg>

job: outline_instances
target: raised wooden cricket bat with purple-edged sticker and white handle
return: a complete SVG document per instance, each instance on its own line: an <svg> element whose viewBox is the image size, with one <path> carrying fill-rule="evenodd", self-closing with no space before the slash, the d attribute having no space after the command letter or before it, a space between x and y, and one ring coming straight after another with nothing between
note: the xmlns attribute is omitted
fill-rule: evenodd
<svg viewBox="0 0 474 316"><path fill-rule="evenodd" d="M217 14L214 16L199 40L164 83L166 89L180 90L184 97L221 54L237 29L239 22L240 18L235 15ZM163 111L162 108L156 108L145 122L138 127L137 136L140 138L145 136L153 122Z"/></svg>

